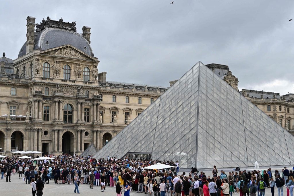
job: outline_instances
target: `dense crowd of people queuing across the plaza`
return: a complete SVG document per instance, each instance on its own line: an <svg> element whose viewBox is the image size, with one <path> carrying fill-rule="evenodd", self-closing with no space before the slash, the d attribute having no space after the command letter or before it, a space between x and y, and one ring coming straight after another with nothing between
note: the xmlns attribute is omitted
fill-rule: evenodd
<svg viewBox="0 0 294 196"><path fill-rule="evenodd" d="M42 196L44 184L55 183L74 184L75 193L79 193L80 184L88 185L89 189L98 187L101 192L106 187L116 187L117 196L129 196L131 191L145 193L150 196L264 196L265 189L270 188L274 196L275 188L278 195L283 196L283 187L286 186L287 196L293 196L294 173L286 167L275 170L272 174L268 170L225 171L214 167L212 175L198 172L192 168L187 175L178 174L178 162L154 160L109 160L94 159L91 156L78 155L48 155L50 160L18 159L18 157L5 158L0 161L1 179L11 182L11 175L18 175L23 183L30 184L33 196ZM155 163L174 166L170 169L149 169L143 167ZM294 167L293 167L294 170ZM52 181L51 181L52 180Z"/></svg>

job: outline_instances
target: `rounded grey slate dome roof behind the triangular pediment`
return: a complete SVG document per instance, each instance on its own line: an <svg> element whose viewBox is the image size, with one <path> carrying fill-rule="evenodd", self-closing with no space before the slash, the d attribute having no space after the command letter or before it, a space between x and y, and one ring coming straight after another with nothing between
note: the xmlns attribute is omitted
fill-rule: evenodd
<svg viewBox="0 0 294 196"><path fill-rule="evenodd" d="M94 56L88 41L80 34L64 29L46 28L35 36L34 50L48 50L63 45L71 45L89 56ZM26 43L19 51L18 58L26 54Z"/></svg>

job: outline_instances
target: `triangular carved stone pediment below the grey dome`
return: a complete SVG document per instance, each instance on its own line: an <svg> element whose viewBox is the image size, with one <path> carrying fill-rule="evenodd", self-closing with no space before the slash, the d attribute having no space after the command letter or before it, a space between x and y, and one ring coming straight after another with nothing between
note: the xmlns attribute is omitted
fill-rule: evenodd
<svg viewBox="0 0 294 196"><path fill-rule="evenodd" d="M83 60L90 60L90 61L97 61L94 58L91 58L90 56L86 55L85 53L79 51L78 49L66 45L66 46L62 46L59 47L58 49L54 49L54 50L47 50L44 52L41 52L44 55L49 55L49 56L62 56L62 57L68 57L68 58L78 58L78 59L83 59Z"/></svg>

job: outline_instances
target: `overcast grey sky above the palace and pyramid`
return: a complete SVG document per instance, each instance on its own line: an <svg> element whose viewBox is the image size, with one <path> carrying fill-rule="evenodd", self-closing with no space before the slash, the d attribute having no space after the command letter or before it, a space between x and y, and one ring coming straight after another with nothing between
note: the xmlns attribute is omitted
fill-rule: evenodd
<svg viewBox="0 0 294 196"><path fill-rule="evenodd" d="M15 59L26 17L91 27L106 80L169 86L198 61L228 65L241 88L294 93L294 1L1 1L1 50Z"/></svg>

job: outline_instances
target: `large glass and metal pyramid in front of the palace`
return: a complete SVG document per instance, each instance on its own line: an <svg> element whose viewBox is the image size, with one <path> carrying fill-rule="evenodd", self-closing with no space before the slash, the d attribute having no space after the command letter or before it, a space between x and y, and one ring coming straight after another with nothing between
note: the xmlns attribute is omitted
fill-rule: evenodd
<svg viewBox="0 0 294 196"><path fill-rule="evenodd" d="M294 137L200 61L94 155L181 168L293 165Z"/></svg>

